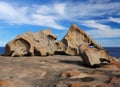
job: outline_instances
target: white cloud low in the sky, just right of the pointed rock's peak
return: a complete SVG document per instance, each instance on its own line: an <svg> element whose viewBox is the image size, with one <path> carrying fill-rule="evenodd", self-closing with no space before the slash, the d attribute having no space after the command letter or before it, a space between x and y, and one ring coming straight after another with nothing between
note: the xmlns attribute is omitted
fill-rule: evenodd
<svg viewBox="0 0 120 87"><path fill-rule="evenodd" d="M94 20L83 22L85 26L93 28L86 32L94 38L114 38L120 37L120 29L112 28L109 25L96 23Z"/></svg>

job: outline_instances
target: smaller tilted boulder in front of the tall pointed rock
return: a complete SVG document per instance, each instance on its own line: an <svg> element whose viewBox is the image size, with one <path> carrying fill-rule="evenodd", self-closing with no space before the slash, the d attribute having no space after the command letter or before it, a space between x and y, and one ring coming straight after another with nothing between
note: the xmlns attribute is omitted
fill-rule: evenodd
<svg viewBox="0 0 120 87"><path fill-rule="evenodd" d="M93 66L101 64L104 61L110 62L108 53L103 49L81 47L81 57L86 65ZM80 49L81 49L80 48Z"/></svg>

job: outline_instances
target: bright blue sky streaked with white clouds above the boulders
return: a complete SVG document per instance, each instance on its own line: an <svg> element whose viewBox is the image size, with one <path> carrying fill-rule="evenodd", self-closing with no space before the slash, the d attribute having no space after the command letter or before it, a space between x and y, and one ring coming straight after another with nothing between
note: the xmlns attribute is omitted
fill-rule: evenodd
<svg viewBox="0 0 120 87"><path fill-rule="evenodd" d="M50 28L60 40L72 23L104 47L120 47L120 0L0 0L0 46Z"/></svg>

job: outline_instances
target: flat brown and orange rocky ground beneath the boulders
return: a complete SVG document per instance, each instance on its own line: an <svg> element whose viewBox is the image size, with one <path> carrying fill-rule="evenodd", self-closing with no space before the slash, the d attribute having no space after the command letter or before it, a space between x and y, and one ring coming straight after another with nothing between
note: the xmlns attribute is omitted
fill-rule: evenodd
<svg viewBox="0 0 120 87"><path fill-rule="evenodd" d="M79 56L0 56L0 87L120 87L120 67L87 67Z"/></svg>

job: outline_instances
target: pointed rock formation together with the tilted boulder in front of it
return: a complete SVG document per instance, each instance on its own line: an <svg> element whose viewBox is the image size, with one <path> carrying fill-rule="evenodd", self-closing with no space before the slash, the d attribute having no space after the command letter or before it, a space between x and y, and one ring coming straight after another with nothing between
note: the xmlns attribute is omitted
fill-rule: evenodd
<svg viewBox="0 0 120 87"><path fill-rule="evenodd" d="M80 55L86 65L110 61L108 53L75 24L60 42L60 47L68 55Z"/></svg>

